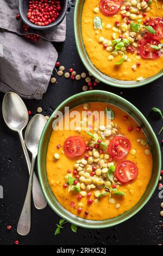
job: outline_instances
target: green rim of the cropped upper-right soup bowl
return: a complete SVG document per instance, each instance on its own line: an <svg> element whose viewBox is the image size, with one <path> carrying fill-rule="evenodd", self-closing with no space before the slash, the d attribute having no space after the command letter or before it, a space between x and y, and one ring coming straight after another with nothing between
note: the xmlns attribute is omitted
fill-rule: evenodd
<svg viewBox="0 0 163 256"><path fill-rule="evenodd" d="M112 77L109 77L105 74L103 74L101 71L99 71L95 65L92 64L87 52L86 52L86 49L85 49L85 46L84 46L84 51L86 53L86 56L87 58L89 59L89 63L93 65L93 67L96 69L96 71L94 72L92 69L91 69L91 66L89 63L87 63L86 59L85 59L85 56L81 50L81 47L80 47L80 43L79 43L79 36L78 34L82 34L80 31L78 31L78 25L79 25L79 22L78 22L78 10L79 10L79 3L81 2L84 2L85 0L77 0L76 1L76 5L75 5L75 8L74 8L74 36L75 36L75 41L76 41L76 46L77 46L77 51L79 53L79 56L80 56L80 59L82 60L85 68L94 76L96 77L99 81L105 83L105 84L108 84L109 86L113 86L113 87L118 87L118 88L136 88L136 87L141 87L141 86L145 86L146 84L148 83L151 83L153 81L155 81L156 79L158 79L159 77L161 77L163 75L163 69L162 71L159 71L157 74L151 76L151 77L147 77L145 78L144 80L142 81L123 81L123 80L117 80L115 78L112 78ZM83 3L82 2L82 3ZM82 37L82 36L81 36ZM83 42L83 37L82 37L82 44L84 45L84 42ZM117 83L118 82L118 83ZM123 84L124 83L124 84Z"/></svg>

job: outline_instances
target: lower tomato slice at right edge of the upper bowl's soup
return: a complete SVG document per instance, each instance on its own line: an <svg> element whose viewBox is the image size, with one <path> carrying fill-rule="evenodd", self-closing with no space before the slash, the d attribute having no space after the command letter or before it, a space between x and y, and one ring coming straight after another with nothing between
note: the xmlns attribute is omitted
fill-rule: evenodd
<svg viewBox="0 0 163 256"><path fill-rule="evenodd" d="M159 51L151 47L151 45L158 46L160 41L154 38L143 39L140 46L140 55L145 59L157 59L159 58Z"/></svg>

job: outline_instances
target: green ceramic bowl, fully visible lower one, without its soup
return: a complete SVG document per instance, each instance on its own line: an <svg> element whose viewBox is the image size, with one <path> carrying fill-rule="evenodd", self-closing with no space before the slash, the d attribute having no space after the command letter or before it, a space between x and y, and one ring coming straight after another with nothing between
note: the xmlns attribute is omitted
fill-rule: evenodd
<svg viewBox="0 0 163 256"><path fill-rule="evenodd" d="M62 102L58 106L58 108L55 109L54 113L56 111L62 111L64 113L65 106L69 106L70 108L73 108L84 102L91 102L91 101L108 102L117 107L122 108L124 111L130 114L137 121L137 123L139 123L139 125L141 125L143 131L145 132L148 138L149 144L152 147L154 166L153 166L152 178L148 184L146 192L143 194L143 197L140 199L140 201L133 208L126 211L124 214L117 216L115 218L110 218L109 220L104 220L104 221L85 220L65 210L58 203L57 199L55 199L54 194L52 193L51 188L49 187L47 172L46 172L46 155L47 155L49 138L51 137L51 133L52 133L52 123L54 120L53 114L49 118L40 139L39 152L37 156L37 168L38 168L41 187L42 187L43 193L45 194L47 202L49 206L51 206L51 208L60 217L83 228L107 228L128 220L130 217L132 217L138 211L140 211L143 208L143 206L145 206L145 204L148 202L148 200L151 198L159 180L160 169L161 169L161 153L160 153L160 147L159 147L157 138L152 130L151 125L149 125L146 118L130 102L128 102L127 100L124 100L122 97L117 96L115 94L104 92L101 90L94 90L94 91L79 93L74 96L71 96L70 98Z"/></svg>

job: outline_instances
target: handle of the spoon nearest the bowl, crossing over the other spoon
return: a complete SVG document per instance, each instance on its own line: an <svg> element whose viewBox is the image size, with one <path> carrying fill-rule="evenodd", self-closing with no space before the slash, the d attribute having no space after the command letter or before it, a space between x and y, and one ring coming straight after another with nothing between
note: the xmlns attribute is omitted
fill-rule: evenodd
<svg viewBox="0 0 163 256"><path fill-rule="evenodd" d="M20 235L28 235L31 226L31 192L32 192L32 181L35 167L36 156L32 157L32 164L30 168L30 176L28 182L28 189L26 199L24 201L23 209L21 212L20 219L17 224L17 233Z"/></svg>

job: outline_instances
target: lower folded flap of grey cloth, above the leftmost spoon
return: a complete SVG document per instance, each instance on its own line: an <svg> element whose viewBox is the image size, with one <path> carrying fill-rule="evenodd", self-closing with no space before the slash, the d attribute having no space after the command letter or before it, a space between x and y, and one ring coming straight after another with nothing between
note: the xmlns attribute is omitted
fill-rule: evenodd
<svg viewBox="0 0 163 256"><path fill-rule="evenodd" d="M41 99L58 58L51 42L30 42L0 29L0 44L0 90L14 90L26 99Z"/></svg>

